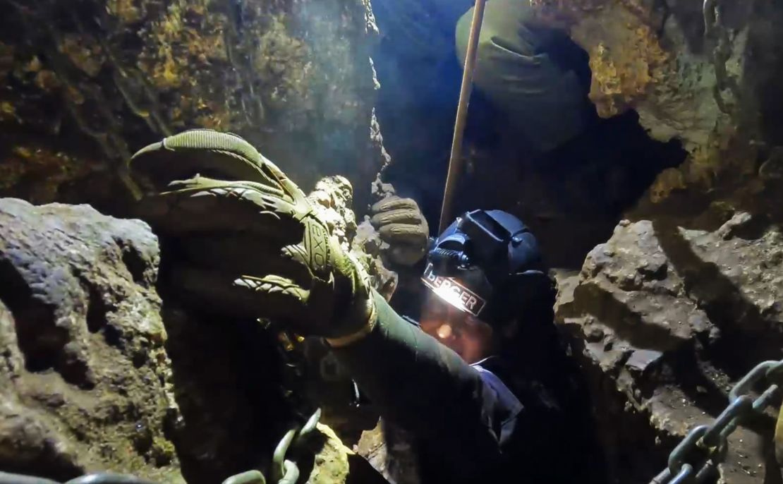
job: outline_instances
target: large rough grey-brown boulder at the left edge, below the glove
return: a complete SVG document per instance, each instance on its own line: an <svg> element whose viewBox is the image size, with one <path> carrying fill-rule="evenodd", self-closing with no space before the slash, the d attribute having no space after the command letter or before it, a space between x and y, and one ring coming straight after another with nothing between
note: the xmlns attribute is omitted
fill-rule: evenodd
<svg viewBox="0 0 783 484"><path fill-rule="evenodd" d="M5 199L0 233L0 468L184 482L149 227Z"/></svg>

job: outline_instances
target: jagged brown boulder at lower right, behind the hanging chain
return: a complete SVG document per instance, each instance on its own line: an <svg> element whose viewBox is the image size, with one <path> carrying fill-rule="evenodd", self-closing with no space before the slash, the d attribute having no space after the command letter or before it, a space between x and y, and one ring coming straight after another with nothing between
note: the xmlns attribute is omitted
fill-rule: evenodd
<svg viewBox="0 0 783 484"><path fill-rule="evenodd" d="M688 430L727 406L738 378L781 359L781 242L747 212L717 228L626 220L561 278L557 323L590 375L616 482L649 482ZM778 482L773 432L772 414L743 423L721 482Z"/></svg>

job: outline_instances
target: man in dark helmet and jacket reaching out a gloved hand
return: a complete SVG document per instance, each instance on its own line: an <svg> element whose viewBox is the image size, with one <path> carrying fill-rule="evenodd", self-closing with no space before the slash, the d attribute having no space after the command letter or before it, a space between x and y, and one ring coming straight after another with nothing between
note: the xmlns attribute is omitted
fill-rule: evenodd
<svg viewBox="0 0 783 484"><path fill-rule="evenodd" d="M433 338L372 289L304 193L244 139L182 132L131 168L148 193L139 215L179 247L168 282L189 304L324 338L411 436L420 482L601 482L554 290L518 219L471 211L438 237L423 278L438 296L424 317ZM471 363L501 357L470 364L448 345Z"/></svg>

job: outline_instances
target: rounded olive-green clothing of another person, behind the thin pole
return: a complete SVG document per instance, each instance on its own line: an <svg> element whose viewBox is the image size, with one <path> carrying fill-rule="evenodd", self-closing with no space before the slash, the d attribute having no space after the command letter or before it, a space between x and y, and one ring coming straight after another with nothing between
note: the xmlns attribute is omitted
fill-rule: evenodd
<svg viewBox="0 0 783 484"><path fill-rule="evenodd" d="M473 9L456 26L456 52L464 65ZM532 9L519 0L489 0L479 37L474 83L511 128L545 152L573 139L586 126L589 103L575 70L547 48L565 34L531 27Z"/></svg>

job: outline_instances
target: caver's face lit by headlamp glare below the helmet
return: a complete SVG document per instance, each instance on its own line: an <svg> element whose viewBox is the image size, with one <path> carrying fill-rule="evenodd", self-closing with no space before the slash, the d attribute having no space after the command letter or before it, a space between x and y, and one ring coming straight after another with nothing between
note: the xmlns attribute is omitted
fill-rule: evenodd
<svg viewBox="0 0 783 484"><path fill-rule="evenodd" d="M489 324L460 311L428 291L421 312L421 329L467 361L475 363L487 356L493 330Z"/></svg>

